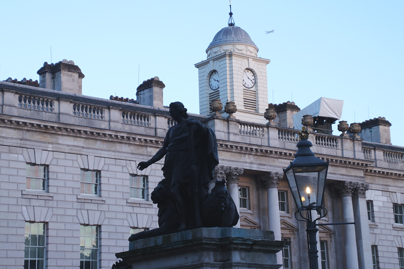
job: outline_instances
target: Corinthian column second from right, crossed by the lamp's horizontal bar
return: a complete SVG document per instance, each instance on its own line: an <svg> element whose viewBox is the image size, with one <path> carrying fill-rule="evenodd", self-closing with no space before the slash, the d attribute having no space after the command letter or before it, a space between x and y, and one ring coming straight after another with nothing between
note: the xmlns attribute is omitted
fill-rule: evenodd
<svg viewBox="0 0 404 269"><path fill-rule="evenodd" d="M343 181L337 187L341 195L343 222L354 222L352 192L357 187L356 182ZM358 250L356 248L355 226L353 224L342 225L345 241L345 257L347 269L359 269ZM370 252L371 253L371 252Z"/></svg>

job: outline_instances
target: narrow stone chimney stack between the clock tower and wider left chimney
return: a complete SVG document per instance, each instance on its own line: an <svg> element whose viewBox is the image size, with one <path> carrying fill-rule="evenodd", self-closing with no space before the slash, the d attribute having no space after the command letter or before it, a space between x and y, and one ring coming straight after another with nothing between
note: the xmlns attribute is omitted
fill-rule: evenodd
<svg viewBox="0 0 404 269"><path fill-rule="evenodd" d="M136 103L149 107L163 107L163 88L166 85L156 76L143 81L136 89Z"/></svg>

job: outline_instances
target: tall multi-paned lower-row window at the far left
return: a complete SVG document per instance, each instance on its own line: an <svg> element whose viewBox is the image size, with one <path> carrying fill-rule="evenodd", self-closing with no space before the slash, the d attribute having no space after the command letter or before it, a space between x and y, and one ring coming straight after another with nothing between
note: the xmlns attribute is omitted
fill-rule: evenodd
<svg viewBox="0 0 404 269"><path fill-rule="evenodd" d="M45 267L45 224L25 223L24 269Z"/></svg>

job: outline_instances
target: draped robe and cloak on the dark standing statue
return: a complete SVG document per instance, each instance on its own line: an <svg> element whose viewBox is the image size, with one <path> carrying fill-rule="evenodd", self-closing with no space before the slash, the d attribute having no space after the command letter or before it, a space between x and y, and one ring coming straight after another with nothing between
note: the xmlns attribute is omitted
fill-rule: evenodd
<svg viewBox="0 0 404 269"><path fill-rule="evenodd" d="M166 158L162 168L164 178L169 186L176 184L190 194L191 169L189 164L189 142L187 119L168 129L164 139L163 148L166 149ZM213 180L213 170L219 164L215 132L207 128L204 136L195 125L192 125L194 135L194 159L196 163L196 177L198 181L198 197L202 203L208 195L209 182Z"/></svg>

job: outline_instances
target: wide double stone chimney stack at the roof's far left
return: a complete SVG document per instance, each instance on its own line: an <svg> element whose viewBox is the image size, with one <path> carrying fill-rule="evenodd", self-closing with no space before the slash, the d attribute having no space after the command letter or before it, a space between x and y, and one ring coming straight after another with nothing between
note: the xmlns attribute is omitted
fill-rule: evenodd
<svg viewBox="0 0 404 269"><path fill-rule="evenodd" d="M36 73L39 75L41 88L82 94L84 74L77 65L74 65L74 61L63 59L56 64L44 62L44 66Z"/></svg>

